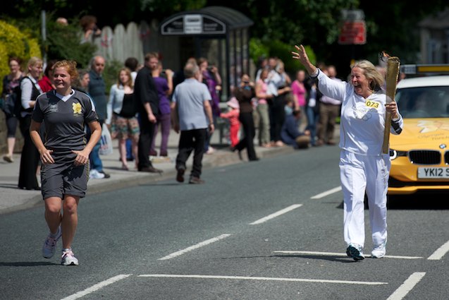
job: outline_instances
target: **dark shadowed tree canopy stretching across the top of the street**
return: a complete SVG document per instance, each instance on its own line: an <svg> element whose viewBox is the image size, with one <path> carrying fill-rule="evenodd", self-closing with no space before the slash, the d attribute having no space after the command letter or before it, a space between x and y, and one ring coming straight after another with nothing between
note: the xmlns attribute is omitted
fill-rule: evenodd
<svg viewBox="0 0 449 300"><path fill-rule="evenodd" d="M106 0L16 0L2 4L2 13L13 18L35 16L42 9L55 11L56 16L70 18L93 14L100 27L140 20L163 20L173 13L203 6L228 6L254 20L252 37L264 44L302 43L312 47L319 61L349 68L351 59L367 58L374 63L380 51L399 56L401 61L414 63L419 52L417 23L443 10L447 0L410 1L359 0L128 0L121 9L108 11ZM342 9L362 9L367 23L367 44L340 45L340 12ZM276 42L276 43L277 43Z"/></svg>

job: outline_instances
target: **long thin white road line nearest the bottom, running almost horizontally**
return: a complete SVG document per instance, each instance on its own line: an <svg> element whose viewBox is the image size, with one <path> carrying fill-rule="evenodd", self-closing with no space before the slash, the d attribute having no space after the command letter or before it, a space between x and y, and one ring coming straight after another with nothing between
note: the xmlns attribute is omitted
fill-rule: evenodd
<svg viewBox="0 0 449 300"><path fill-rule="evenodd" d="M221 276L221 275L147 274L147 275L138 275L138 277L198 278L198 279L223 279L223 280L265 280L265 281L320 282L320 283L367 284L367 285L388 284L388 282L366 282L366 281L347 281L347 280L317 280L317 279L281 278L281 277Z"/></svg>

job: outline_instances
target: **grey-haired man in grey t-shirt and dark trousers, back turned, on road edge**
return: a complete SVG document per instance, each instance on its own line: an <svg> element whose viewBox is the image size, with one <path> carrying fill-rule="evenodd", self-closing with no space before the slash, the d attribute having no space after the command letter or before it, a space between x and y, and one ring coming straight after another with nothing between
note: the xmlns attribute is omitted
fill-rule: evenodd
<svg viewBox="0 0 449 300"><path fill-rule="evenodd" d="M193 166L189 184L204 184L201 176L204 143L209 133L214 132L212 119L211 95L207 85L200 83L195 76L199 75L196 64L186 64L184 67L185 80L176 86L173 92L173 128L180 133L178 156L176 157L176 180L184 181L185 162L192 150Z"/></svg>

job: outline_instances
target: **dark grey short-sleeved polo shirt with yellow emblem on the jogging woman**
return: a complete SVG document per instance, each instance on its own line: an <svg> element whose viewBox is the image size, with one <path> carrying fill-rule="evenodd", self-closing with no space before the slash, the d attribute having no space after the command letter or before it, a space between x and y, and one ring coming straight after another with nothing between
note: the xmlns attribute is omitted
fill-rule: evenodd
<svg viewBox="0 0 449 300"><path fill-rule="evenodd" d="M54 152L71 152L85 148L85 124L98 121L92 99L78 90L73 90L66 99L61 99L52 90L37 97L32 119L44 121L44 145Z"/></svg>

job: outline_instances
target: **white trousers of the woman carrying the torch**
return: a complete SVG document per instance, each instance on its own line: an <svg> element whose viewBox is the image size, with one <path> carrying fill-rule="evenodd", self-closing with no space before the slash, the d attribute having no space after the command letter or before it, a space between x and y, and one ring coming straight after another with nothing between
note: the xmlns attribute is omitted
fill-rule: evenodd
<svg viewBox="0 0 449 300"><path fill-rule="evenodd" d="M343 236L350 243L364 246L364 196L368 196L369 222L374 246L387 239L387 191L390 157L340 152L340 180L343 189Z"/></svg>

